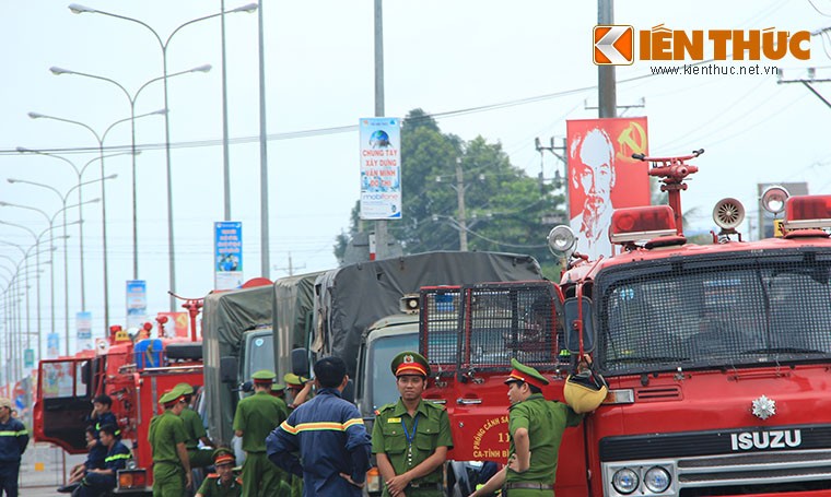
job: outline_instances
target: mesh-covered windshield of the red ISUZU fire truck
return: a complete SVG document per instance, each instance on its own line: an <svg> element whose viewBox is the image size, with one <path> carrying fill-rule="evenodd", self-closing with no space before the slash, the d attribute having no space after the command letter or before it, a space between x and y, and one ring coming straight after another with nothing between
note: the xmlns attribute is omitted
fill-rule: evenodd
<svg viewBox="0 0 831 497"><path fill-rule="evenodd" d="M595 284L607 374L831 357L831 253L731 252L610 268Z"/></svg>

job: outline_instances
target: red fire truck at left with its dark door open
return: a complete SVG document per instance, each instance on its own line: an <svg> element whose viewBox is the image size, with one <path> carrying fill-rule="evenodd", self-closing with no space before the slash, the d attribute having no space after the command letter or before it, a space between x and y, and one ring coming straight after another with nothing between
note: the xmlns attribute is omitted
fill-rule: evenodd
<svg viewBox="0 0 831 497"><path fill-rule="evenodd" d="M163 330L166 318L157 320ZM141 335L151 329L145 323ZM69 453L85 453L84 429L92 400L102 393L113 399L113 413L122 439L130 441L133 458L128 470L119 471L119 494L144 494L152 486L152 453L147 440L150 419L160 413L159 397L182 382L202 384L201 342L195 342L192 335L166 338L163 331L160 338L141 335L112 327L108 341L98 342L98 351L43 359L38 365L33 409L37 441L55 443Z"/></svg>

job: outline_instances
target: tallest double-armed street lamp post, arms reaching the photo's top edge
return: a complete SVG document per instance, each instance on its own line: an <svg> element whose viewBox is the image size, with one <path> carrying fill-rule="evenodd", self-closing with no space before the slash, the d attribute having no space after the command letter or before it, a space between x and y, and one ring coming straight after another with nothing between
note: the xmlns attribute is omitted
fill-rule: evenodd
<svg viewBox="0 0 831 497"><path fill-rule="evenodd" d="M236 9L231 9L229 11L222 11L218 12L215 14L204 15L202 17L197 17L194 20L190 20L184 24L180 24L177 26L173 32L167 36L166 39L162 39L162 37L159 35L159 33L153 29L149 24L147 24L143 21L140 21L138 19L128 17L126 15L120 14L114 14L112 12L105 12L97 9L92 9L90 7L80 5L78 3L71 3L69 5L69 10L72 11L72 13L75 14L83 14L83 13L94 13L94 14L102 14L107 15L110 17L120 19L124 21L129 21L136 24L140 24L144 26L150 33L153 34L156 42L159 42L159 47L162 49L162 74L164 76L163 85L164 85L164 107L169 108L167 103L167 47L171 44L171 40L176 35L176 33L179 32L185 26L188 26L194 23L198 23L200 21L206 21L209 19L218 17L220 15L223 15L225 13L235 13L235 12L254 12L257 9L256 3L249 3L243 7L237 7ZM223 116L223 120L227 119L227 116ZM173 174L171 170L171 119L169 116L165 116L164 119L164 153L165 153L165 161L166 161L166 173L167 173L167 263L169 268L169 289L171 292L176 291L176 256L175 256L175 249L174 249L174 239L173 239ZM225 177L225 184L227 184L229 178ZM229 202L227 199L225 199L226 203ZM176 297L171 295L171 310L176 309Z"/></svg>

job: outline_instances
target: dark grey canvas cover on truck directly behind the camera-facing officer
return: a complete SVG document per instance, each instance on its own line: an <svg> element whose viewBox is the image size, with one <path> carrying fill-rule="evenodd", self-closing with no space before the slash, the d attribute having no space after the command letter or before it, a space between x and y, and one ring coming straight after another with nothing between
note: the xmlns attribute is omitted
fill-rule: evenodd
<svg viewBox="0 0 831 497"><path fill-rule="evenodd" d="M342 358L354 377L362 333L398 313L405 294L422 286L541 279L532 257L498 252L426 252L327 271L315 282L312 348Z"/></svg>

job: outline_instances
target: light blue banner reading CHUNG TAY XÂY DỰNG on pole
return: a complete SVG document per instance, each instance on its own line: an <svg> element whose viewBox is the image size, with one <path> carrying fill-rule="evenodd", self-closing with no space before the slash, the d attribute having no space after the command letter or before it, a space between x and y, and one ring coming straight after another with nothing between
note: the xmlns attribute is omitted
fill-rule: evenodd
<svg viewBox="0 0 831 497"><path fill-rule="evenodd" d="M395 117L363 118L361 218L401 218L401 125Z"/></svg>

